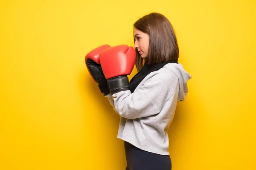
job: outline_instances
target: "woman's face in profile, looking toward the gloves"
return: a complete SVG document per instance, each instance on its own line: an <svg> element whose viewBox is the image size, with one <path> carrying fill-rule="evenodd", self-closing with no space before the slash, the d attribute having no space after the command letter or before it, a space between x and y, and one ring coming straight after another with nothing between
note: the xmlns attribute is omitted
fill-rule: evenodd
<svg viewBox="0 0 256 170"><path fill-rule="evenodd" d="M137 30L134 27L134 38L134 48L137 49L137 51L140 54L140 57L148 57L149 35L140 30Z"/></svg>

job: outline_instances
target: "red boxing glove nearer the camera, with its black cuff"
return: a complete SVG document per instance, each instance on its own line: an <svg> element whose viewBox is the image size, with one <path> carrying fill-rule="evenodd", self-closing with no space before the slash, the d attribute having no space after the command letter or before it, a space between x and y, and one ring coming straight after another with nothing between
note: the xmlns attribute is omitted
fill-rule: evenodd
<svg viewBox="0 0 256 170"><path fill-rule="evenodd" d="M128 45L117 45L99 54L102 71L108 81L111 94L130 89L127 75L131 74L136 52Z"/></svg>

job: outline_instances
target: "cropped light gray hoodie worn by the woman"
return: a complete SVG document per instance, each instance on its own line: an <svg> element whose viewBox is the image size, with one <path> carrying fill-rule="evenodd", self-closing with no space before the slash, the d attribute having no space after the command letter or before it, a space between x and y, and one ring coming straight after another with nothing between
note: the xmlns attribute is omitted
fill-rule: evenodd
<svg viewBox="0 0 256 170"><path fill-rule="evenodd" d="M188 93L191 79L180 63L169 63L148 74L131 94L130 90L108 94L119 114L117 138L152 153L169 155L168 129L178 101Z"/></svg>

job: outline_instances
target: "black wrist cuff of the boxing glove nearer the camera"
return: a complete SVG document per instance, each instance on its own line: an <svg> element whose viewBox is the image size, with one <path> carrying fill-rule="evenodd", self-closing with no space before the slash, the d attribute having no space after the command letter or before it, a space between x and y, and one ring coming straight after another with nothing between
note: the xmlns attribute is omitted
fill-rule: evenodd
<svg viewBox="0 0 256 170"><path fill-rule="evenodd" d="M108 89L112 94L119 91L126 91L130 89L129 79L127 76L118 76L108 79Z"/></svg>

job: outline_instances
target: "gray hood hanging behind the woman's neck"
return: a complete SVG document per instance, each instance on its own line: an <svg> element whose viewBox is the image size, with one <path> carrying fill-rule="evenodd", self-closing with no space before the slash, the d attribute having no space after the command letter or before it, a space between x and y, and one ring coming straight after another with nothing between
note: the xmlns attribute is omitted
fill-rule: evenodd
<svg viewBox="0 0 256 170"><path fill-rule="evenodd" d="M189 90L187 81L191 79L192 76L187 71L185 71L183 65L181 65L179 62L178 64L176 63L166 64L164 68L170 69L178 77L178 80L179 80L178 101L184 101L186 99L186 95Z"/></svg>

